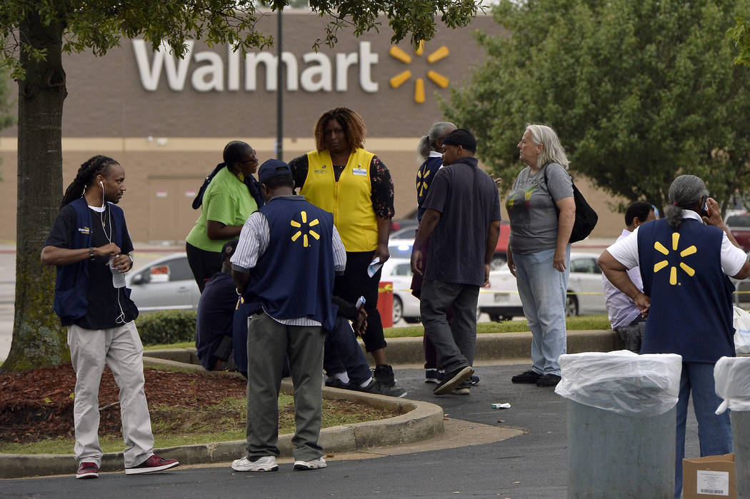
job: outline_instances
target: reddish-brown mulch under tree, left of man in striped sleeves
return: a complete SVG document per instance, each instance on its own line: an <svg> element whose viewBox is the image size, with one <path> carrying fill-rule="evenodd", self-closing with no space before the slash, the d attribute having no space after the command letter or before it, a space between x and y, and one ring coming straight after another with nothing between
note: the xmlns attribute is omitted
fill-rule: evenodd
<svg viewBox="0 0 750 499"><path fill-rule="evenodd" d="M149 368L143 373L149 408L161 405L198 411L229 397L245 397L245 380L239 378ZM0 441L26 443L73 437L75 386L76 373L71 364L0 375ZM118 393L107 367L99 387L100 435L120 434Z"/></svg>

